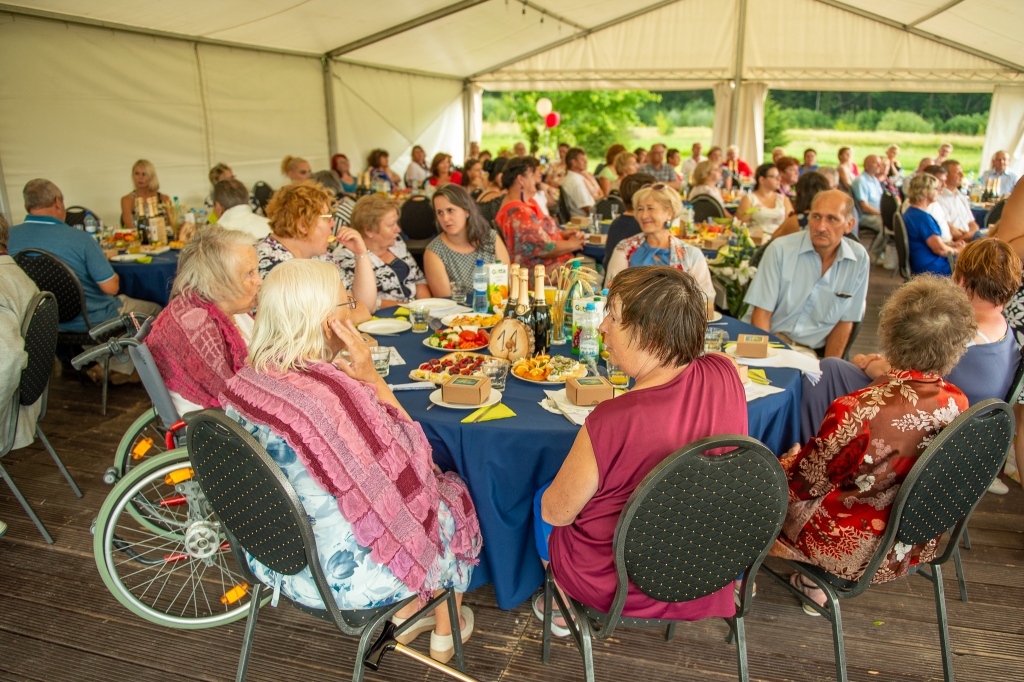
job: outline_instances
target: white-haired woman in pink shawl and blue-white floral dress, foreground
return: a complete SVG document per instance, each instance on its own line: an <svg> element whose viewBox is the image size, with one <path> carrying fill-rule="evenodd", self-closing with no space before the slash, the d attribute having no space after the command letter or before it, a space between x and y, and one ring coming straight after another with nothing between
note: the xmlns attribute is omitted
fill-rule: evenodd
<svg viewBox="0 0 1024 682"><path fill-rule="evenodd" d="M433 465L423 429L374 370L353 309L333 264L293 259L275 267L259 294L249 361L220 400L266 449L315 521L339 608L376 608L454 588L466 641L473 612L462 606L462 593L482 545L476 511L458 475ZM251 557L249 564L289 599L324 608L308 567L281 576ZM413 601L396 621L416 610ZM444 605L399 641L431 629L430 655L445 663L455 649Z"/></svg>

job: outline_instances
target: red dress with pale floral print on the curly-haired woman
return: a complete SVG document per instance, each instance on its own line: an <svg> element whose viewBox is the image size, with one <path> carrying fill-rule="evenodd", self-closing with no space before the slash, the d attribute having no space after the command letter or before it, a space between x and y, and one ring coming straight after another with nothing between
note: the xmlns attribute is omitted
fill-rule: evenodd
<svg viewBox="0 0 1024 682"><path fill-rule="evenodd" d="M838 398L818 435L782 460L790 508L772 554L858 580L878 550L900 483L968 399L936 375L893 370ZM902 578L935 556L938 539L896 543L872 579Z"/></svg>

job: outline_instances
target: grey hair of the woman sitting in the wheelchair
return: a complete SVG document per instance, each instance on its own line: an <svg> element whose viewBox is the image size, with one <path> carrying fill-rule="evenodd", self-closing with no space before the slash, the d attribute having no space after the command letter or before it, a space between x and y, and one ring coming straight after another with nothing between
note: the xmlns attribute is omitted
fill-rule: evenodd
<svg viewBox="0 0 1024 682"><path fill-rule="evenodd" d="M236 273L239 249L253 248L253 238L237 229L208 225L196 232L178 258L171 298L191 293L216 303L245 294Z"/></svg>

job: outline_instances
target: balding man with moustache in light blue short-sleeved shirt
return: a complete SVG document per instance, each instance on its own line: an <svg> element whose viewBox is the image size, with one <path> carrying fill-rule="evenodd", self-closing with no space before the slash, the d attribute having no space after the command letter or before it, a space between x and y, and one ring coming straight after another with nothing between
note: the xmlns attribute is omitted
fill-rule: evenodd
<svg viewBox="0 0 1024 682"><path fill-rule="evenodd" d="M806 230L771 241L744 299L755 327L796 350L843 356L864 316L870 269L864 247L844 237L854 221L850 197L829 189L815 196Z"/></svg>

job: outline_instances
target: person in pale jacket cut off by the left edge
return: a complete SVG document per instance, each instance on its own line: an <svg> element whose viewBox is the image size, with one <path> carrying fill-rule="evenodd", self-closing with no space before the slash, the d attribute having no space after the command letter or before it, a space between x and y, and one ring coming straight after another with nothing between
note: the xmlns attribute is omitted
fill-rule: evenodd
<svg viewBox="0 0 1024 682"><path fill-rule="evenodd" d="M7 431L11 400L22 383L22 371L29 364L29 353L22 338L22 325L29 312L32 297L39 293L35 283L22 271L14 259L7 255L9 236L7 220L0 213L0 452L13 439L13 449L32 444L36 434L36 422L42 407L42 397L34 404L18 408L17 430ZM0 536L6 526L0 521Z"/></svg>

